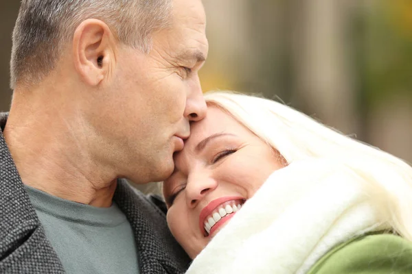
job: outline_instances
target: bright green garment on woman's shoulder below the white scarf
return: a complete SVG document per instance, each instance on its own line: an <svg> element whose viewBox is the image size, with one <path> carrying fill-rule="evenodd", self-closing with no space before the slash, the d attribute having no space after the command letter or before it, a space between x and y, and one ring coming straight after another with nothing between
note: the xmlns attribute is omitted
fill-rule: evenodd
<svg viewBox="0 0 412 274"><path fill-rule="evenodd" d="M393 234L369 234L329 251L308 274L411 274L412 242Z"/></svg>

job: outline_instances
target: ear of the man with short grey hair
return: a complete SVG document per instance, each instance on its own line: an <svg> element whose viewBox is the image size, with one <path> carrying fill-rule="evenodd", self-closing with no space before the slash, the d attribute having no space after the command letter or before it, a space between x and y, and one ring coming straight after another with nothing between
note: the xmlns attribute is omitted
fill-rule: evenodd
<svg viewBox="0 0 412 274"><path fill-rule="evenodd" d="M83 21L73 36L73 62L83 81L97 86L115 62L116 38L98 19Z"/></svg>

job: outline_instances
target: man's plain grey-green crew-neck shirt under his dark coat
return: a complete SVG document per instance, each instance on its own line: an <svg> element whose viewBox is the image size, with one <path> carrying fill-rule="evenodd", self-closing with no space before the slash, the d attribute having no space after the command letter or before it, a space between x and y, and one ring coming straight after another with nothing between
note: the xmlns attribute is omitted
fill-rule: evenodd
<svg viewBox="0 0 412 274"><path fill-rule="evenodd" d="M25 189L65 273L139 273L133 230L116 203L96 208Z"/></svg>

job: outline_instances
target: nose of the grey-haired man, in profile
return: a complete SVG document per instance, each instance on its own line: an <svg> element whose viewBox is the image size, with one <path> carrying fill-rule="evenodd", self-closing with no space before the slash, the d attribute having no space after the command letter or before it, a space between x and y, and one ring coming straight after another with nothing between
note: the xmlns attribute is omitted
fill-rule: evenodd
<svg viewBox="0 0 412 274"><path fill-rule="evenodd" d="M186 99L184 116L189 121L201 121L206 116L207 105L201 88L198 75L194 77L189 86L190 92Z"/></svg>

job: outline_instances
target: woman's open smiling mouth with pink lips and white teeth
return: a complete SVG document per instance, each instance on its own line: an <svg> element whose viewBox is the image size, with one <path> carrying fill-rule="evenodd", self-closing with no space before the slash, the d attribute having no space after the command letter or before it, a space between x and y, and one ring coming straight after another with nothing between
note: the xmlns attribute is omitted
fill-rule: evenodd
<svg viewBox="0 0 412 274"><path fill-rule="evenodd" d="M229 221L244 203L242 197L220 197L211 201L199 215L199 228L206 237Z"/></svg>

